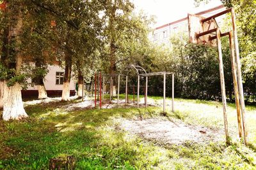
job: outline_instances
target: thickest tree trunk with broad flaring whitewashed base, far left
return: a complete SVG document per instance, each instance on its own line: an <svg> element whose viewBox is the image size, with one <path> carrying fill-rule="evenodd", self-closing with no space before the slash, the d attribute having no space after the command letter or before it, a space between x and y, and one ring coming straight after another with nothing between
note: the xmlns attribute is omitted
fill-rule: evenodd
<svg viewBox="0 0 256 170"><path fill-rule="evenodd" d="M17 18L17 24L15 25L16 28L16 44L20 45L21 39L20 34L22 32L23 27L23 19L22 19L22 11L20 10L21 5L17 5L19 8L19 12L15 16ZM9 46L7 47L7 50L4 52L6 56L10 55ZM13 63L9 63L8 69L14 69L16 70L16 74L20 74L20 69L22 66L22 55L20 50L16 47L15 49L15 65L13 67ZM7 57L8 60L8 57ZM13 62L13 61L7 61ZM3 104L3 120L20 120L22 118L28 117L26 111L24 110L24 106L22 103L22 96L21 96L21 87L19 83L15 83L14 85L8 87L8 81L4 80L4 104Z"/></svg>

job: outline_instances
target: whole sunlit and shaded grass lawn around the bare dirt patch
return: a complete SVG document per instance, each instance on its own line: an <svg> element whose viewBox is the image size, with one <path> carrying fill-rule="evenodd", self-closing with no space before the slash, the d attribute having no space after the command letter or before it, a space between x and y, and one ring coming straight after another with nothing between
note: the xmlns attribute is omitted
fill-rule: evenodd
<svg viewBox="0 0 256 170"><path fill-rule="evenodd" d="M161 97L150 100L159 105L162 102ZM25 108L28 119L0 120L0 169L48 169L49 159L65 155L74 155L76 169L256 169L255 106L246 107L247 148L236 139L230 146L224 141L168 145L131 135L116 122L118 118L173 118L223 129L221 103L214 101L175 99L175 113L169 109L166 117L162 108L153 106L65 110L77 102L29 105ZM231 134L238 133L234 104L228 104L228 126Z"/></svg>

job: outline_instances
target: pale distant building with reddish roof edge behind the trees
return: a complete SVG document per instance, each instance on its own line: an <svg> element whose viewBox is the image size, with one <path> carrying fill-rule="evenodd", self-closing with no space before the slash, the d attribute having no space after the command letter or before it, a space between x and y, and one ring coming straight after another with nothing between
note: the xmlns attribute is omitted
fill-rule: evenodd
<svg viewBox="0 0 256 170"><path fill-rule="evenodd" d="M225 10L224 5L216 6L214 8L211 8L209 10L200 11L198 13L195 13L195 15L202 15L203 17L210 17L211 15L214 15L216 13L219 13L220 11ZM218 18L217 22L220 24L220 20L222 18ZM184 31L188 32L188 17L181 18L180 20L176 20L174 22L170 22L168 24L162 25L160 27L157 27L154 29L154 31L150 32L149 39L150 41L157 43L159 45L164 44L168 45L170 43L170 36L172 34L175 34L175 32Z"/></svg>

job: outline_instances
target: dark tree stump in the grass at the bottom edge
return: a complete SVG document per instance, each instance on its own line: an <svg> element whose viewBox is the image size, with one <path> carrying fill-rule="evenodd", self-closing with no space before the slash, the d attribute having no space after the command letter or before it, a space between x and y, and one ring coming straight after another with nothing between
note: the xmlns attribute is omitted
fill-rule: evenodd
<svg viewBox="0 0 256 170"><path fill-rule="evenodd" d="M75 167L74 156L56 157L56 158L52 158L49 162L49 170L55 170L55 169L73 170L74 167Z"/></svg>

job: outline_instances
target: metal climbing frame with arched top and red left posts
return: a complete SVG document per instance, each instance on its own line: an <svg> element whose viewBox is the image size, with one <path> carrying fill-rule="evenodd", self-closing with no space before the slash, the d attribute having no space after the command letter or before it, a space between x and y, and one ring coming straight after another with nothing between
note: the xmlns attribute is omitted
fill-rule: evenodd
<svg viewBox="0 0 256 170"><path fill-rule="evenodd" d="M118 88L117 88L117 105L120 104L120 77L125 76L125 104L128 103L128 77L129 72L131 70L135 70L138 76L138 85L137 85L137 108L140 106L140 78L141 76L145 77L145 107L147 108L147 94L148 94L148 76L163 76L163 112L166 112L166 75L172 74L172 111L174 111L174 73L169 72L157 72L157 73L147 73L145 69L141 66L128 65L125 69L126 74L104 74L102 76L101 73L95 73L95 108L97 106L97 91L99 91L99 106L102 107L102 99L104 100L104 87L105 87L105 79L109 77L109 103L111 103L113 98L113 78L118 77ZM97 81L99 81L99 90L97 90ZM103 83L103 88L102 88ZM134 87L134 86L133 86ZM134 94L134 92L133 92ZM101 97L102 96L102 97Z"/></svg>

